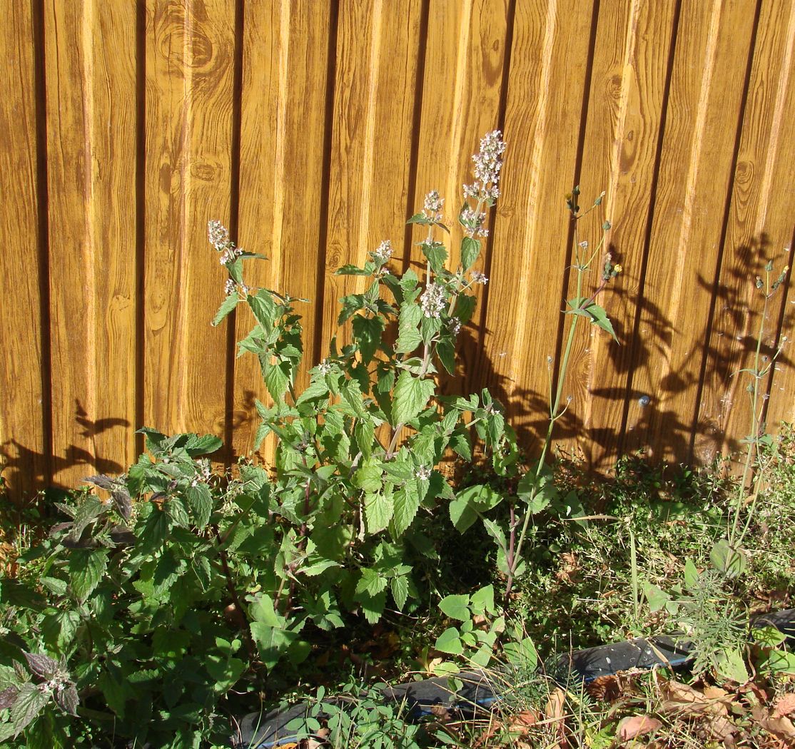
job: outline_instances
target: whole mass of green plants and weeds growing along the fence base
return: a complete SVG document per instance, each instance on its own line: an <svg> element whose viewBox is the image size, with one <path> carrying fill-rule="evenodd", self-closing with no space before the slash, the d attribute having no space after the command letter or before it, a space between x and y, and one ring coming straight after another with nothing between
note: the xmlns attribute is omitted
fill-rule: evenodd
<svg viewBox="0 0 795 749"><path fill-rule="evenodd" d="M784 599L792 590L790 432L766 438L754 406L747 473L734 484L691 474L673 485L624 461L613 485L595 488L553 459L578 326L615 337L599 306L621 272L604 252L610 222L593 247L577 234L602 196L584 211L578 189L567 197L576 294L541 454L522 454L487 390L441 394L475 288L487 283L475 268L504 149L497 131L481 141L457 226L444 222L440 195L426 195L409 219L423 234L419 268L397 274L387 240L363 266L339 268L360 291L340 300L342 332L301 392L306 301L248 286L246 263L262 256L210 222L227 272L212 324L232 311L252 319L238 348L258 358L270 396L256 406L256 446L275 438L273 465L244 460L217 473L208 456L218 438L145 427L146 452L126 473L87 478L56 504L45 538L17 537L14 569L0 581L0 744L225 746L236 717L321 682L316 705L331 707L307 716L306 746L310 734L332 746L511 745L529 733L510 715L528 711L533 725L558 726L561 747L577 745L562 714L543 718L526 694L504 701L488 728L440 715L420 731L359 681L348 680L351 709L337 709L325 687L343 681L345 666L333 665L333 651L360 673L380 653L391 663L383 676L442 674L451 689L460 668L507 664L540 699L548 682L531 674L555 649L675 624L708 643L700 678L747 683L754 666L780 680L795 670L772 632L749 661L747 627L735 626L751 589ZM463 235L461 260L448 268L443 240L453 232ZM783 277L762 282L766 300ZM758 353L753 399L769 366ZM461 485L440 469L451 454L469 476ZM574 628L572 612L583 614ZM615 725L599 725L613 731L608 743L593 743L590 728L583 740L611 745Z"/></svg>

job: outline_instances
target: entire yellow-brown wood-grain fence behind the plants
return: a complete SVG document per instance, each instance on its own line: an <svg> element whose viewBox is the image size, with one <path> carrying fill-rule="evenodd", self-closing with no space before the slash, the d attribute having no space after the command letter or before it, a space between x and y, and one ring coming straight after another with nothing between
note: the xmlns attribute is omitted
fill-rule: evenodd
<svg viewBox="0 0 795 749"><path fill-rule="evenodd" d="M571 293L563 196L603 203L620 346L576 342L561 443L603 467L708 461L749 430L762 266L789 262L795 0L4 0L0 443L13 492L120 472L134 429L250 450L248 319L211 328L208 218L312 299L308 365L356 280L333 276L508 143L456 386L537 439ZM591 230L598 228L597 224ZM593 232L591 236L593 236ZM457 242L456 242L457 246ZM414 253L414 254L410 254ZM456 260L456 249L452 252ZM787 277L762 342L792 335ZM234 330L234 326L237 330ZM586 326L587 327L587 326ZM767 418L792 420L786 346ZM646 396L646 397L644 397Z"/></svg>

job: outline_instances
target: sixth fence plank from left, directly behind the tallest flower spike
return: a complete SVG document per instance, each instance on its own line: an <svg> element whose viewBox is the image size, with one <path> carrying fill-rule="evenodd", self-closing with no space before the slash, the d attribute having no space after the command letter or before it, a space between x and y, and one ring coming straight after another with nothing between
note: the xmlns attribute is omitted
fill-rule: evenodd
<svg viewBox="0 0 795 749"><path fill-rule="evenodd" d="M457 214L463 200L462 186L471 183L471 154L479 139L498 126L502 77L508 34L506 0L464 0L430 3L428 36L425 41L422 110L417 156L417 181L412 212L421 210L427 193L436 190L444 197L444 216L452 226L448 242L448 267L460 261ZM509 145L510 147L510 145ZM412 241L425 234L412 232ZM439 236L436 237L440 239ZM406 250L412 249L411 247ZM413 261L421 261L413 248ZM478 269L487 267L484 252ZM483 287L477 287L479 292ZM484 294L479 293L479 304ZM479 315L475 316L479 319ZM450 392L468 392L479 349L479 331L471 323L460 335L462 371L452 381Z"/></svg>

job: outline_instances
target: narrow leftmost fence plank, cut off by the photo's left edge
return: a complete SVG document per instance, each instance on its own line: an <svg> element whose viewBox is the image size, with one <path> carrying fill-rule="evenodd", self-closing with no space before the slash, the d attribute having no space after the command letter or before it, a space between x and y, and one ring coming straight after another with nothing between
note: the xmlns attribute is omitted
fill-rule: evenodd
<svg viewBox="0 0 795 749"><path fill-rule="evenodd" d="M0 32L6 70L6 94L0 102L0 277L7 297L0 305L0 470L10 496L20 500L41 488L47 456L42 387L39 185L37 185L37 102L35 34L30 3L7 9Z"/></svg>

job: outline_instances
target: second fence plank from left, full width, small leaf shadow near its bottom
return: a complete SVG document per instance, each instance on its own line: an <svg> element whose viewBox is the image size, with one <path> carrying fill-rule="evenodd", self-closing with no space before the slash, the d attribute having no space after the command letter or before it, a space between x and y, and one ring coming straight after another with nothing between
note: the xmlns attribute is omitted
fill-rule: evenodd
<svg viewBox="0 0 795 749"><path fill-rule="evenodd" d="M45 5L53 481L120 473L135 412L134 6Z"/></svg>

